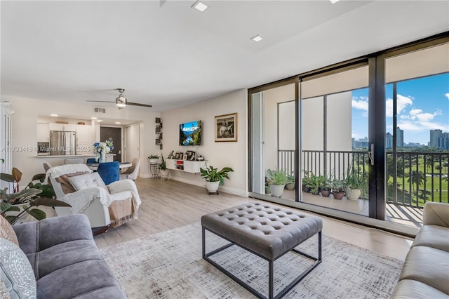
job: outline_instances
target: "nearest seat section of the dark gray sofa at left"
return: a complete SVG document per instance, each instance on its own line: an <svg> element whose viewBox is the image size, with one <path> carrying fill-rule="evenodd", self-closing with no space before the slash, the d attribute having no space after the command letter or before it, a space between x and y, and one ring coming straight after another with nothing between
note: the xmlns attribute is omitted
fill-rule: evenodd
<svg viewBox="0 0 449 299"><path fill-rule="evenodd" d="M108 298L126 298L103 260L62 267L37 281L37 298L106 298L93 295L102 290L109 294Z"/></svg>

